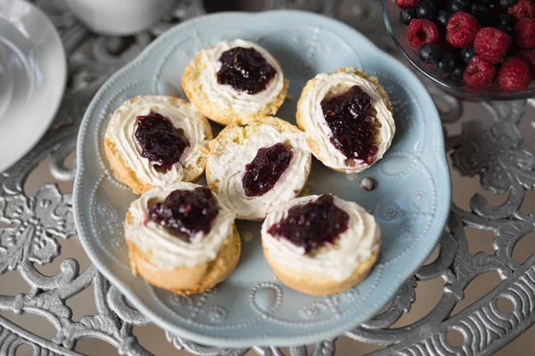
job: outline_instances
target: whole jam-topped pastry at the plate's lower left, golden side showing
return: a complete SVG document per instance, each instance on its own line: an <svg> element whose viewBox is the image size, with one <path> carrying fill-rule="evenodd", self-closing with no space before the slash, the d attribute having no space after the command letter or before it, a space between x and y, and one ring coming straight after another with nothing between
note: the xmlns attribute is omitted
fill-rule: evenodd
<svg viewBox="0 0 535 356"><path fill-rule="evenodd" d="M125 222L130 265L156 287L191 295L226 279L240 258L234 212L189 182L146 191Z"/></svg>

